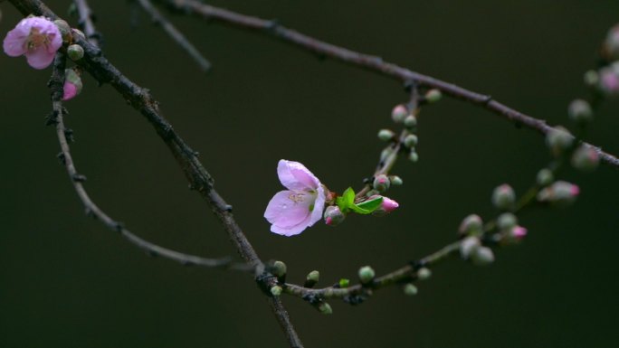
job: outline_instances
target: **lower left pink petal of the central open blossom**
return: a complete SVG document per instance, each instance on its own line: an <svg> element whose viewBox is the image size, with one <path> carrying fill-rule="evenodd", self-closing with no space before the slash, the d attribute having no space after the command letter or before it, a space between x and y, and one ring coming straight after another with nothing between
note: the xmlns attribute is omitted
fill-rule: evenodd
<svg viewBox="0 0 619 348"><path fill-rule="evenodd" d="M310 205L314 200L315 197L307 193L275 193L264 211L264 218L274 226L284 229L297 226L310 216Z"/></svg>

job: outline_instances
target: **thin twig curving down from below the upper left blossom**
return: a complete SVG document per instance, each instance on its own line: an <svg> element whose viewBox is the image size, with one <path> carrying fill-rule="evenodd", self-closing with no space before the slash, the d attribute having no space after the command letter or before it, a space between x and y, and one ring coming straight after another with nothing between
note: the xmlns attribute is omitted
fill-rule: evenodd
<svg viewBox="0 0 619 348"><path fill-rule="evenodd" d="M230 258L205 259L195 255L188 255L175 250L163 248L158 246L157 244L149 242L148 240L143 240L142 238L139 238L137 235L133 234L130 230L125 229L122 223L110 218L110 216L103 212L97 206L97 204L90 200L90 196L88 195L82 184L82 182L85 180L85 177L81 174L78 174L77 169L73 163L71 149L69 146L69 141L67 139L67 128L64 126L63 121L63 116L66 115L66 110L62 108L61 101L62 85L64 83L64 65L64 53L58 52L56 54L56 59L53 62L52 79L50 80L50 88L52 89L53 111L48 121L50 124L56 125L56 135L58 136L58 142L60 143L62 149L61 155L59 155L59 157L61 158L62 163L67 168L67 174L69 174L71 183L73 183L73 188L78 194L78 197L80 197L80 200L83 203L87 214L97 218L110 230L119 232L121 236L129 240L129 242L137 246L139 249L145 250L151 256L160 256L165 259L171 259L176 262L180 262L181 264L186 266L195 265L207 268L225 267L232 269L250 270L251 268L247 268L247 265L245 264L232 264Z"/></svg>

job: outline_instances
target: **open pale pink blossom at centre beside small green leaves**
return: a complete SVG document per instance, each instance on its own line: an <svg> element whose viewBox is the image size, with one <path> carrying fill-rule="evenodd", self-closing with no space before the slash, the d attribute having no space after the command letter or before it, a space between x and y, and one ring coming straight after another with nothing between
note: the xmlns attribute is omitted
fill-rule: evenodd
<svg viewBox="0 0 619 348"><path fill-rule="evenodd" d="M271 232L293 236L322 219L325 189L299 162L280 160L277 175L288 190L275 193L264 211L264 218L271 222Z"/></svg>

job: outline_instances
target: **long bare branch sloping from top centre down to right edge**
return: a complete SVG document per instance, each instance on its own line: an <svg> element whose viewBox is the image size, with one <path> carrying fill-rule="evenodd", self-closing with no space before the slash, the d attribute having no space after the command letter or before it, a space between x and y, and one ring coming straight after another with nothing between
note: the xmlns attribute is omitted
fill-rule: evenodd
<svg viewBox="0 0 619 348"><path fill-rule="evenodd" d="M275 21L269 21L246 14L238 14L224 8L202 4L197 0L166 0L166 3L171 8L181 13L192 13L208 21L220 21L224 24L233 24L243 29L271 35L281 41L300 46L302 49L310 52L315 52L319 54L320 57L334 58L338 61L343 61L369 71L375 71L403 82L412 80L419 86L440 89L445 95L455 99L469 101L482 108L487 108L491 112L507 118L509 121L535 129L543 135L546 135L548 131L552 129L552 127L548 126L546 121L532 118L513 108L509 108L492 99L489 95L477 93L470 89L463 89L455 84L434 79L431 76L419 72L410 71L394 63L383 61L383 59L378 56L351 51L328 42L319 41L303 33L286 28ZM592 146L588 143L583 144ZM614 167L619 167L619 158L615 155L604 152L598 146L592 147L597 154L600 155L602 162L613 165Z"/></svg>

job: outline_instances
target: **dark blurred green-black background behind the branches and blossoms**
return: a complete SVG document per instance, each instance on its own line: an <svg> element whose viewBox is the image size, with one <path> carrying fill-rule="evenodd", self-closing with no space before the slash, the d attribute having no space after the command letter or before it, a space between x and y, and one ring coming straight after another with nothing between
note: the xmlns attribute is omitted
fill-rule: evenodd
<svg viewBox="0 0 619 348"><path fill-rule="evenodd" d="M48 5L64 16L69 3ZM586 95L582 74L619 22L615 0L211 4L278 18L327 42L490 93L550 124L567 123L569 100ZM395 166L405 180L389 193L401 203L397 212L355 216L336 229L319 223L294 238L272 234L262 212L281 190L277 161L300 161L338 192L360 187L383 145L377 130L393 127L390 110L406 99L401 85L257 33L173 16L213 62L205 75L148 16L133 30L126 2L90 5L107 57L152 90L176 131L201 153L262 259L285 260L292 282L319 269L320 285L328 286L354 279L366 264L382 274L423 257L454 240L465 215L494 216L494 186L507 182L522 193L548 161L536 132L444 99L420 117L419 163ZM0 9L6 33L21 16L7 2ZM148 258L84 216L55 157L54 131L43 127L50 70L33 71L24 58L4 54L0 67L0 346L286 346L251 277ZM81 96L66 106L76 165L104 210L163 246L235 254L153 129L110 86L86 77ZM617 154L617 129L615 99L587 138ZM308 347L616 346L617 174L607 165L567 174L582 189L575 206L524 214L525 243L500 249L489 268L445 262L419 284L418 296L388 288L362 306L331 301L330 316L296 297L284 302Z"/></svg>

